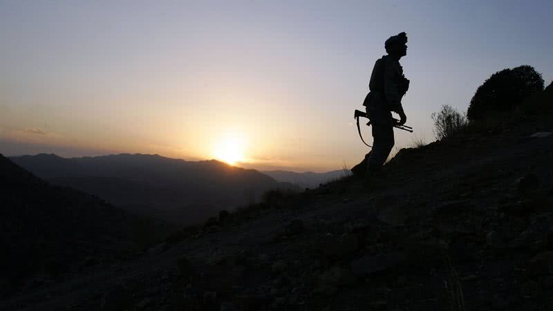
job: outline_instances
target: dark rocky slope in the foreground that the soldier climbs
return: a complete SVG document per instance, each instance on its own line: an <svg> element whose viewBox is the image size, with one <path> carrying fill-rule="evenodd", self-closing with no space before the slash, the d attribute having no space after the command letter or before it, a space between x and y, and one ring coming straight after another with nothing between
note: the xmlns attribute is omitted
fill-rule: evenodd
<svg viewBox="0 0 553 311"><path fill-rule="evenodd" d="M403 149L0 310L549 310L553 117Z"/></svg>

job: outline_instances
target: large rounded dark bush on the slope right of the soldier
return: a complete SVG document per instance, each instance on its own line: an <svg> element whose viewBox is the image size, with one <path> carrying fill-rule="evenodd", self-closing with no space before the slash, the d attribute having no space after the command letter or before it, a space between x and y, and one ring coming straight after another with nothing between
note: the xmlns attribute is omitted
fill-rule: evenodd
<svg viewBox="0 0 553 311"><path fill-rule="evenodd" d="M469 104L467 117L474 121L489 113L510 111L525 97L543 91L543 83L541 73L532 66L500 70L478 86Z"/></svg>

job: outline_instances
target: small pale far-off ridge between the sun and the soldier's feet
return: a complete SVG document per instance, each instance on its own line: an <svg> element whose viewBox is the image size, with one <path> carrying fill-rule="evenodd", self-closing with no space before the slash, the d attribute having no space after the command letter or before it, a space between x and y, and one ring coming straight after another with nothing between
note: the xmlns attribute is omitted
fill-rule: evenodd
<svg viewBox="0 0 553 311"><path fill-rule="evenodd" d="M330 180L336 180L348 175L348 171L338 169L336 171L327 171L326 173L313 173L306 171L298 173L295 171L261 171L279 182L290 182L292 185L298 185L302 188L315 188L319 184L324 184Z"/></svg>

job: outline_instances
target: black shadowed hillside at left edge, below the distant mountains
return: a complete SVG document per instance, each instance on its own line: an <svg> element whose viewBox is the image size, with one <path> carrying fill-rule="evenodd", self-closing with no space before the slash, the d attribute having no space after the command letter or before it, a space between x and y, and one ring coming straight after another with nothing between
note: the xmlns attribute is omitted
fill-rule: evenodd
<svg viewBox="0 0 553 311"><path fill-rule="evenodd" d="M24 276L57 277L85 258L111 261L159 241L162 224L44 182L0 155L1 292ZM145 237L141 231L147 232ZM8 286L8 282L10 285Z"/></svg>

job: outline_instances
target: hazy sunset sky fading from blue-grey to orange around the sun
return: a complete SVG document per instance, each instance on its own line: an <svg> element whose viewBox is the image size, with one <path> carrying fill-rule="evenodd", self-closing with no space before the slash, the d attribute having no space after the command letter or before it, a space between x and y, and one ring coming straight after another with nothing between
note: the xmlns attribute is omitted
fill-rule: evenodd
<svg viewBox="0 0 553 311"><path fill-rule="evenodd" d="M553 1L1 1L0 153L350 168L388 37L409 37L406 147L498 70L550 84L552 16Z"/></svg>

